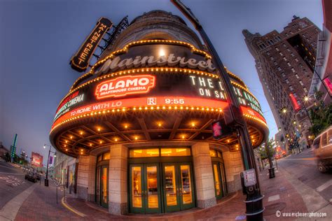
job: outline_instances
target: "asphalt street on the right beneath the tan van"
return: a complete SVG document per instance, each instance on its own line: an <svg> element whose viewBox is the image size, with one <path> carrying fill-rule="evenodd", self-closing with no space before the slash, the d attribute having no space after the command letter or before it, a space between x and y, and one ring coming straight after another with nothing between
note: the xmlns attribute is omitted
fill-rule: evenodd
<svg viewBox="0 0 332 221"><path fill-rule="evenodd" d="M316 190L321 197L332 201L332 172L320 173L317 170L317 162L310 149L300 152L298 155L279 159L277 164L305 185Z"/></svg>

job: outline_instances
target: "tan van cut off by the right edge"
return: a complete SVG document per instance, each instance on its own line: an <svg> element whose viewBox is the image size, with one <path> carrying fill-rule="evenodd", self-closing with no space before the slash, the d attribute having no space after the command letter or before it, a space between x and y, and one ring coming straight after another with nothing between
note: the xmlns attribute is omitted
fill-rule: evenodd
<svg viewBox="0 0 332 221"><path fill-rule="evenodd" d="M312 145L317 157L317 169L321 173L326 173L332 168L332 126L314 138Z"/></svg>

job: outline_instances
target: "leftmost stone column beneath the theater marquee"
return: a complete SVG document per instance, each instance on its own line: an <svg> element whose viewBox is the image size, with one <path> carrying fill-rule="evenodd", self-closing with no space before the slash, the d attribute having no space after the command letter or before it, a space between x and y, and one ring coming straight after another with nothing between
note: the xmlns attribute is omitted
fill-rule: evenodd
<svg viewBox="0 0 332 221"><path fill-rule="evenodd" d="M77 197L86 201L95 201L95 156L80 156L78 159Z"/></svg>

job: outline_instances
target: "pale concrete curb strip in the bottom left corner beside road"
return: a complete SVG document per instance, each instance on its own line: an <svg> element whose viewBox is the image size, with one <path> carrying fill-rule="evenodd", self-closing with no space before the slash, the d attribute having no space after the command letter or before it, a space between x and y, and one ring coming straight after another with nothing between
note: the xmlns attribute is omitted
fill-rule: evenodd
<svg viewBox="0 0 332 221"><path fill-rule="evenodd" d="M20 210L24 201L29 197L29 195L34 191L36 184L27 188L25 191L18 194L16 197L8 201L8 203L1 208L0 220L15 220L18 211Z"/></svg>

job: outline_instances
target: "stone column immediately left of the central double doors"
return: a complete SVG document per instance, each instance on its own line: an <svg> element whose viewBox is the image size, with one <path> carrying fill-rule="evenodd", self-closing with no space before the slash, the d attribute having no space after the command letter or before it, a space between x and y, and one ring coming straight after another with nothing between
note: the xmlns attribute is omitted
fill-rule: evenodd
<svg viewBox="0 0 332 221"><path fill-rule="evenodd" d="M109 160L109 213L122 215L127 213L127 156L124 145L111 145Z"/></svg>

